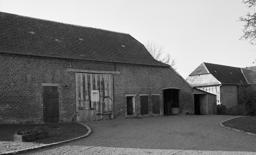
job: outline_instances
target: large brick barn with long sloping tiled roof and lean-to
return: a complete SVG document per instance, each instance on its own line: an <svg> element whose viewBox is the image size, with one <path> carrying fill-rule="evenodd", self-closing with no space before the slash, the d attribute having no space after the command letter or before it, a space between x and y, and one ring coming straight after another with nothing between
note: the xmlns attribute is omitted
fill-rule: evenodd
<svg viewBox="0 0 256 155"><path fill-rule="evenodd" d="M0 123L194 114L195 96L216 111L129 34L4 12L0 34Z"/></svg>

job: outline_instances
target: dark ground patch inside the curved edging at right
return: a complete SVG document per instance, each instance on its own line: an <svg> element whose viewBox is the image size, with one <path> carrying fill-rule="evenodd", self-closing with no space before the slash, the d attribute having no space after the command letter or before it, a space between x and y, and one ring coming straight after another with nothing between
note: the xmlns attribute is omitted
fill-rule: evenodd
<svg viewBox="0 0 256 155"><path fill-rule="evenodd" d="M227 127L256 134L256 116L236 118L222 124Z"/></svg>

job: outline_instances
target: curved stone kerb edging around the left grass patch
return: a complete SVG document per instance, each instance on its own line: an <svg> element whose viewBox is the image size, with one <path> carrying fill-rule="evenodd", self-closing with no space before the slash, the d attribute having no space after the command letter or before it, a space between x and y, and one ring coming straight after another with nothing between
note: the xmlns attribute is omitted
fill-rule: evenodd
<svg viewBox="0 0 256 155"><path fill-rule="evenodd" d="M77 121L75 121L77 122ZM91 128L83 123L80 123L80 122L77 122L83 126L85 126L87 128L87 133L83 136L79 136L77 138L73 138L73 139L69 139L69 140L65 140L65 141L60 141L60 142L57 142L57 143L51 143L51 144L45 144L45 145L42 145L42 146L37 146L37 147L33 147L33 148L27 148L27 149L22 149L22 150L18 150L18 151L12 151L12 152L4 152L4 153L0 153L0 155L12 155L12 154L19 154L19 153L22 153L22 152L28 152L28 151L31 151L31 150L36 150L36 149L41 149L41 148L46 148L46 147L50 147L50 146L54 146L54 145L59 145L59 144L64 144L64 143L68 143L68 142L72 142L72 141L75 141L75 140L79 140L81 138L84 138L84 137L87 137L89 136L89 134L92 132Z"/></svg>

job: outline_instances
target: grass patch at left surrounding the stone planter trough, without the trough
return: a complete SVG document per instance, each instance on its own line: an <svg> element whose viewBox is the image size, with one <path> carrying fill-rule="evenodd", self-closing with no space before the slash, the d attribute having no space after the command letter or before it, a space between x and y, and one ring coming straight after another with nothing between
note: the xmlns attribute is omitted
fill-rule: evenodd
<svg viewBox="0 0 256 155"><path fill-rule="evenodd" d="M86 127L76 122L43 124L49 130L49 137L30 142L13 142L15 131L30 131L40 124L0 124L0 153L17 151L25 148L56 143L82 136L87 133Z"/></svg>

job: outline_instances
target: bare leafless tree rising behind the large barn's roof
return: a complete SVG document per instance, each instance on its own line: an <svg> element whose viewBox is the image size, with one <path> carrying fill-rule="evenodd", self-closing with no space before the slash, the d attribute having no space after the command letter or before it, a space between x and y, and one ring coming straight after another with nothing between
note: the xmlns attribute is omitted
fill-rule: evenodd
<svg viewBox="0 0 256 155"><path fill-rule="evenodd" d="M145 43L145 47L156 60L169 64L170 66L172 66L172 68L177 69L176 58L171 57L171 54L169 52L165 56L163 56L163 53L164 53L163 45L159 45L154 41L148 40Z"/></svg>

